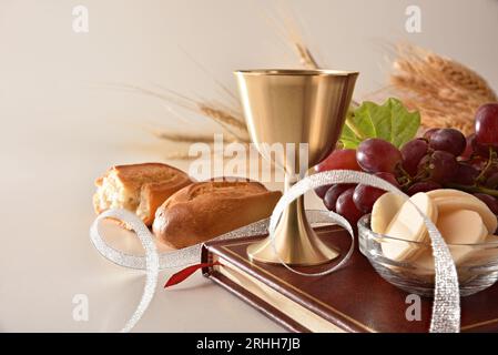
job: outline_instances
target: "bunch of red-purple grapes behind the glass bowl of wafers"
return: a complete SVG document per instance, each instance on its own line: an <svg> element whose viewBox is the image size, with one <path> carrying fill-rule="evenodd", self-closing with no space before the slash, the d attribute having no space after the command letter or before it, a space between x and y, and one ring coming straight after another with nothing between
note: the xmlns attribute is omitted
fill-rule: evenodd
<svg viewBox="0 0 498 355"><path fill-rule="evenodd" d="M455 129L430 129L398 150L382 139L367 139L357 150L335 150L317 172L356 170L372 173L408 195L436 189L472 193L498 215L498 103L480 106L476 132L465 136ZM356 225L372 212L385 191L363 184L335 184L317 189L329 211Z"/></svg>

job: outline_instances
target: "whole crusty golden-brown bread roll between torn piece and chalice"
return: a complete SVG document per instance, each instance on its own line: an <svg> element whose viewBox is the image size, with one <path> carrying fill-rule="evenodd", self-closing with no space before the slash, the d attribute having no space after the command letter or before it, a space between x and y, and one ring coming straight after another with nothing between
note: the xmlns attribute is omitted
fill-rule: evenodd
<svg viewBox="0 0 498 355"><path fill-rule="evenodd" d="M182 248L268 217L281 196L247 180L193 183L157 209L152 230L169 246Z"/></svg>

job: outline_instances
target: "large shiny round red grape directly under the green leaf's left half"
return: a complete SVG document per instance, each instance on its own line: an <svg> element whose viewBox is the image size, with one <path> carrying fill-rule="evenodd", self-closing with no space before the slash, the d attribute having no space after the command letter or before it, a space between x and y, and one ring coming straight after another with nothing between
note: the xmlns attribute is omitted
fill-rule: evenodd
<svg viewBox="0 0 498 355"><path fill-rule="evenodd" d="M370 138L363 141L357 151L356 160L363 170L369 173L394 173L402 163L402 152L387 141Z"/></svg>

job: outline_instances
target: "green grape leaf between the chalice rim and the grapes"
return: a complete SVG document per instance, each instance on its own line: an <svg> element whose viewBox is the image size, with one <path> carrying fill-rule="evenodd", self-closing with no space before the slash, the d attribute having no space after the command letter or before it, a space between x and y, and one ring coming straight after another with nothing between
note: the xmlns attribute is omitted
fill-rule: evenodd
<svg viewBox="0 0 498 355"><path fill-rule="evenodd" d="M356 149L369 138L379 138L400 148L417 134L420 114L409 112L403 103L389 98L384 104L365 101L346 116L339 141L346 149Z"/></svg>

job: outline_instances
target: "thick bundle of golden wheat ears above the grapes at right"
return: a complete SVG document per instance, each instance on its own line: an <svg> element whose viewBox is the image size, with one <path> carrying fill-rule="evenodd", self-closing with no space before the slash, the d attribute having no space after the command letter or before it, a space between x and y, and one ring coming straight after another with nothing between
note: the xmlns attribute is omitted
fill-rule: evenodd
<svg viewBox="0 0 498 355"><path fill-rule="evenodd" d="M389 93L420 111L425 128L451 126L469 134L479 105L497 95L474 70L449 58L411 45L398 44Z"/></svg>

